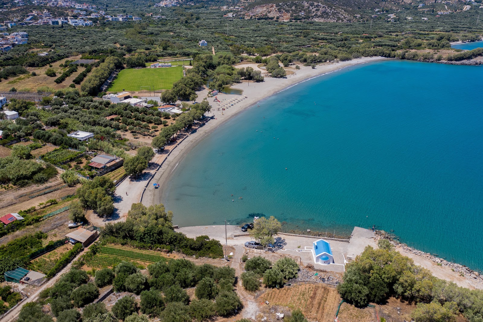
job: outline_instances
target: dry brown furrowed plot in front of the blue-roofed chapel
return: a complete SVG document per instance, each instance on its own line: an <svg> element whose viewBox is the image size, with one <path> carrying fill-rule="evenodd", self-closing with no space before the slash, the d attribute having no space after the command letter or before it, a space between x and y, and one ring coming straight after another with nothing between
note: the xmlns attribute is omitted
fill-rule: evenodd
<svg viewBox="0 0 483 322"><path fill-rule="evenodd" d="M291 309L300 308L309 321L334 321L341 297L333 287L322 284L299 284L282 289L271 289L260 296L270 305Z"/></svg>

